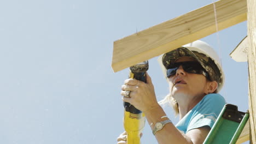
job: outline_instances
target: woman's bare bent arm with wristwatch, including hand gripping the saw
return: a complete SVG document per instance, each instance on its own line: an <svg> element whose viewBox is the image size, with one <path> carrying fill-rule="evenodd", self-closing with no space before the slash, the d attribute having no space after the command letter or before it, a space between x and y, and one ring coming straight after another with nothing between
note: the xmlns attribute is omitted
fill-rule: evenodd
<svg viewBox="0 0 256 144"><path fill-rule="evenodd" d="M123 101L132 104L138 110L145 113L148 123L151 125L151 129L154 129L156 122L165 121L167 118L161 118L166 116L166 113L162 107L158 104L155 97L154 86L151 78L147 74L147 83L135 80L127 79L124 82L125 85L121 87L121 95L125 96L125 91L130 92L130 98L123 97ZM159 143L200 143L205 140L210 128L196 128L188 131L187 134L181 133L172 123L167 123L163 129L156 132L155 137ZM207 133L207 134L206 134ZM202 135L204 134L204 135ZM201 142L202 143L202 142Z"/></svg>

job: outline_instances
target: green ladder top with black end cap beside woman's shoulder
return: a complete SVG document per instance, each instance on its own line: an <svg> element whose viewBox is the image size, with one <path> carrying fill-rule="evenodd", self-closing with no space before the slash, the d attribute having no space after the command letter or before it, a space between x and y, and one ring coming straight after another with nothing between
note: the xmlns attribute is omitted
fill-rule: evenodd
<svg viewBox="0 0 256 144"><path fill-rule="evenodd" d="M248 118L248 111L241 112L236 105L226 104L203 144L235 144Z"/></svg>

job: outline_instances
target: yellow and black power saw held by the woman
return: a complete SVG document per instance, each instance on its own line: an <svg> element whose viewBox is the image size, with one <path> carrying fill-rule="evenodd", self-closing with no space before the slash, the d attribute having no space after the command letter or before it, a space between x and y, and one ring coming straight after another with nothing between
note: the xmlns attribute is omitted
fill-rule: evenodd
<svg viewBox="0 0 256 144"><path fill-rule="evenodd" d="M130 67L129 78L140 80L146 83L146 71L148 61L138 63ZM145 125L145 115L130 103L124 102L124 128L127 133L127 144L139 144L140 134Z"/></svg>

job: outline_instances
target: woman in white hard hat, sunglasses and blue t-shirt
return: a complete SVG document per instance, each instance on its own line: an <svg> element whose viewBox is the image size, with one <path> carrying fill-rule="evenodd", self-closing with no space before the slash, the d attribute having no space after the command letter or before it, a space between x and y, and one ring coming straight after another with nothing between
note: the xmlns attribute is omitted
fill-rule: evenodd
<svg viewBox="0 0 256 144"><path fill-rule="evenodd" d="M217 94L223 87L224 73L216 52L197 40L159 59L170 89L160 103L172 105L179 115L178 124L174 126L159 105L148 74L147 83L124 81L123 101L145 113L158 143L203 143L225 105L224 98ZM125 132L118 137L118 143L126 143Z"/></svg>

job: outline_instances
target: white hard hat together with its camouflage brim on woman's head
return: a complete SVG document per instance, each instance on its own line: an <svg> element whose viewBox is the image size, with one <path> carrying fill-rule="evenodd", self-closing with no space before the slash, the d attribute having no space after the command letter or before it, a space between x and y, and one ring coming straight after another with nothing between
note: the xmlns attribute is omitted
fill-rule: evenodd
<svg viewBox="0 0 256 144"><path fill-rule="evenodd" d="M174 63L177 58L184 56L195 58L210 75L210 79L218 82L218 92L222 89L224 85L224 71L219 56L210 45L201 40L186 44L158 58L158 62L165 77L168 65Z"/></svg>

